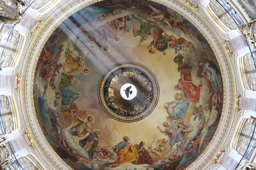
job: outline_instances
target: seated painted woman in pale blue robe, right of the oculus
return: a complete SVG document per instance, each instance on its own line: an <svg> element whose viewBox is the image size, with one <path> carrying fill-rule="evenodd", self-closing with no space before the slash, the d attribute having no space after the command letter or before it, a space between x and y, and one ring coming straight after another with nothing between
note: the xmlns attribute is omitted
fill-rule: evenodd
<svg viewBox="0 0 256 170"><path fill-rule="evenodd" d="M187 98L164 103L164 108L172 119L184 119L189 100Z"/></svg>

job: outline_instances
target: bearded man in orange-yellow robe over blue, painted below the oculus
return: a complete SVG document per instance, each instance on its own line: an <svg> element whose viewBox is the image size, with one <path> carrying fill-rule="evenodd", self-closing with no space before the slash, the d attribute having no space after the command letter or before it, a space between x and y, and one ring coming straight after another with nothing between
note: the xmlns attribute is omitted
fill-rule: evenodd
<svg viewBox="0 0 256 170"><path fill-rule="evenodd" d="M124 141L119 142L112 147L112 150L117 153L118 159L109 165L110 168L122 165L124 163L136 164L138 161L138 152L134 145L130 144L128 136L124 136Z"/></svg>

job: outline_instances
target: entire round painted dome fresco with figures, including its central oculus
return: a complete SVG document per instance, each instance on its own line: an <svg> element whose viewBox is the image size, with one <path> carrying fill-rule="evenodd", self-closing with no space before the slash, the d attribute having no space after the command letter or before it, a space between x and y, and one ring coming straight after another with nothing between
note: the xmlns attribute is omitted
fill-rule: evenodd
<svg viewBox="0 0 256 170"><path fill-rule="evenodd" d="M75 170L185 169L219 123L217 60L177 12L128 2L90 5L52 33L35 71L38 121Z"/></svg>

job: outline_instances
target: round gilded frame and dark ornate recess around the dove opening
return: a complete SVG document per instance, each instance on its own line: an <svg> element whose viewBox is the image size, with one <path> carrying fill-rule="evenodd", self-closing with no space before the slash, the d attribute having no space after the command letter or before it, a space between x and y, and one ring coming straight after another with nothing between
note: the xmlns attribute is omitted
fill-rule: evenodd
<svg viewBox="0 0 256 170"><path fill-rule="evenodd" d="M131 84L122 89L124 85ZM122 90L130 100L123 97ZM132 90L133 89L133 90ZM159 99L159 85L154 74L136 62L121 62L110 67L101 77L98 98L103 110L121 122L136 122L148 116Z"/></svg>

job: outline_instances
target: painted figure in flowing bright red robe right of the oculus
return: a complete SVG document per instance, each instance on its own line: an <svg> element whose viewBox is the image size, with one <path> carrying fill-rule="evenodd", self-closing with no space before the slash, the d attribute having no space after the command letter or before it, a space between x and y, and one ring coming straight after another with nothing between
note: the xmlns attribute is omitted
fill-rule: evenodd
<svg viewBox="0 0 256 170"><path fill-rule="evenodd" d="M181 74L181 77L178 81L178 84L175 85L175 90L182 90L187 95L187 98L192 103L198 103L200 97L200 83L198 86L194 85L192 82L188 82L184 80L184 75Z"/></svg>

